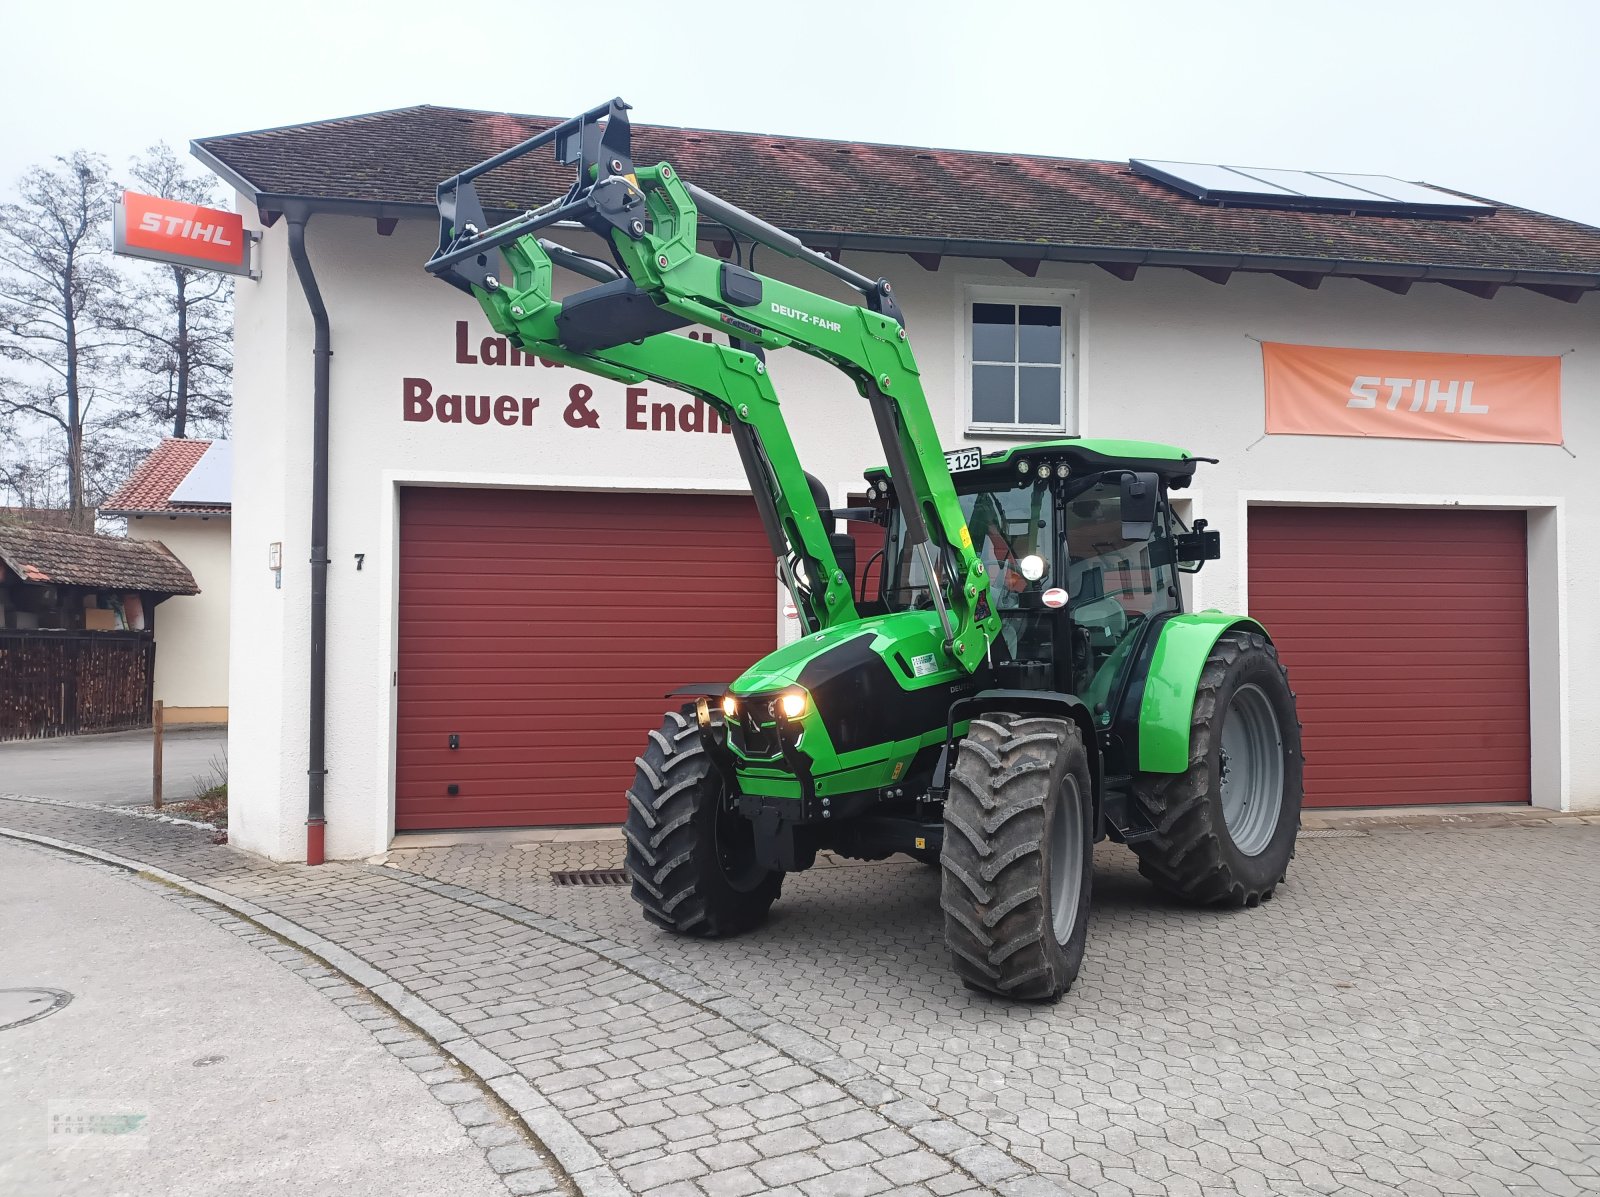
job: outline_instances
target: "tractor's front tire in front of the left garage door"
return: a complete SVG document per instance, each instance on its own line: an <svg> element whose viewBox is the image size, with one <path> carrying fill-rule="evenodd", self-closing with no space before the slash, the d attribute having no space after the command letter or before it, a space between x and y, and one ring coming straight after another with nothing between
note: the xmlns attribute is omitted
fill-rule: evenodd
<svg viewBox="0 0 1600 1197"><path fill-rule="evenodd" d="M725 807L693 707L669 711L634 763L622 837L645 917L707 939L765 922L784 875L757 863L750 823Z"/></svg>

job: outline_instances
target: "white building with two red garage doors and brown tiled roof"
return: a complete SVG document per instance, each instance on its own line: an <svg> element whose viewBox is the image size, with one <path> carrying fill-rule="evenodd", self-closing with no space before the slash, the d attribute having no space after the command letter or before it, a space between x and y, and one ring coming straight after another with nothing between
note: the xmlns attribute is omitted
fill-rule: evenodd
<svg viewBox="0 0 1600 1197"><path fill-rule="evenodd" d="M381 851L397 829L618 821L664 691L728 679L786 631L731 438L706 411L523 360L422 270L434 186L538 128L418 107L195 144L262 234L262 277L238 286L234 416L245 848L306 853L312 318L296 219L333 347L328 855ZM1600 453L1600 230L1506 206L1219 206L1125 163L640 126L635 147L893 278L947 446L1067 434L1219 458L1186 493L1224 536L1194 598L1274 629L1309 803L1600 807L1600 743L1579 731L1600 723L1600 565L1578 502ZM523 190L486 198L522 208L565 186L512 178ZM829 286L787 267L757 259ZM974 378L982 406L1014 366L974 365L974 322L1018 318L1061 328L1058 368L1029 378L1029 427L973 411ZM1558 358L1565 446L1267 435L1262 342ZM1373 360L1357 414L1370 392L1374 419L1403 418L1414 387L1443 429L1426 435L1475 435L1450 430L1475 414L1450 390L1472 362L1386 382L1392 360ZM771 366L802 459L842 499L877 464L866 405L811 358ZM1493 419L1538 422L1533 398L1512 402Z"/></svg>

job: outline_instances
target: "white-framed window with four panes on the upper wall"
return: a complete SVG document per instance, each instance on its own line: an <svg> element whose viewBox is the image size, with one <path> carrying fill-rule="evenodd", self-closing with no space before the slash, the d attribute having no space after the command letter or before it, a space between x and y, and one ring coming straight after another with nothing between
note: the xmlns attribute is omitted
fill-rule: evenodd
<svg viewBox="0 0 1600 1197"><path fill-rule="evenodd" d="M1078 296L1034 286L968 286L966 430L1078 430Z"/></svg>

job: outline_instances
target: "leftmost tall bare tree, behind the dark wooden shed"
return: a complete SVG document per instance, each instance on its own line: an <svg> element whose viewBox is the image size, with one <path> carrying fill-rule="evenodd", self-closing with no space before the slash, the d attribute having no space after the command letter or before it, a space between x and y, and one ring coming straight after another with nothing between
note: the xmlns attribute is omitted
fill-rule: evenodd
<svg viewBox="0 0 1600 1197"><path fill-rule="evenodd" d="M59 430L67 507L82 530L94 526L85 430L91 413L117 424L123 282L110 256L112 195L106 160L78 150L29 170L16 200L0 203L0 358L11 363L0 376L0 416Z"/></svg>

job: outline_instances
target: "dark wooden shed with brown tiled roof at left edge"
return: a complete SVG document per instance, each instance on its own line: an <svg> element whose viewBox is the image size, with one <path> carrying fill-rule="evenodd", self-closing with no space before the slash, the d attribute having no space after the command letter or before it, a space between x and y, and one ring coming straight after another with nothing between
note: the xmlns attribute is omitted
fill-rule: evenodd
<svg viewBox="0 0 1600 1197"><path fill-rule="evenodd" d="M198 587L160 541L0 525L0 739L149 725L174 594Z"/></svg>

